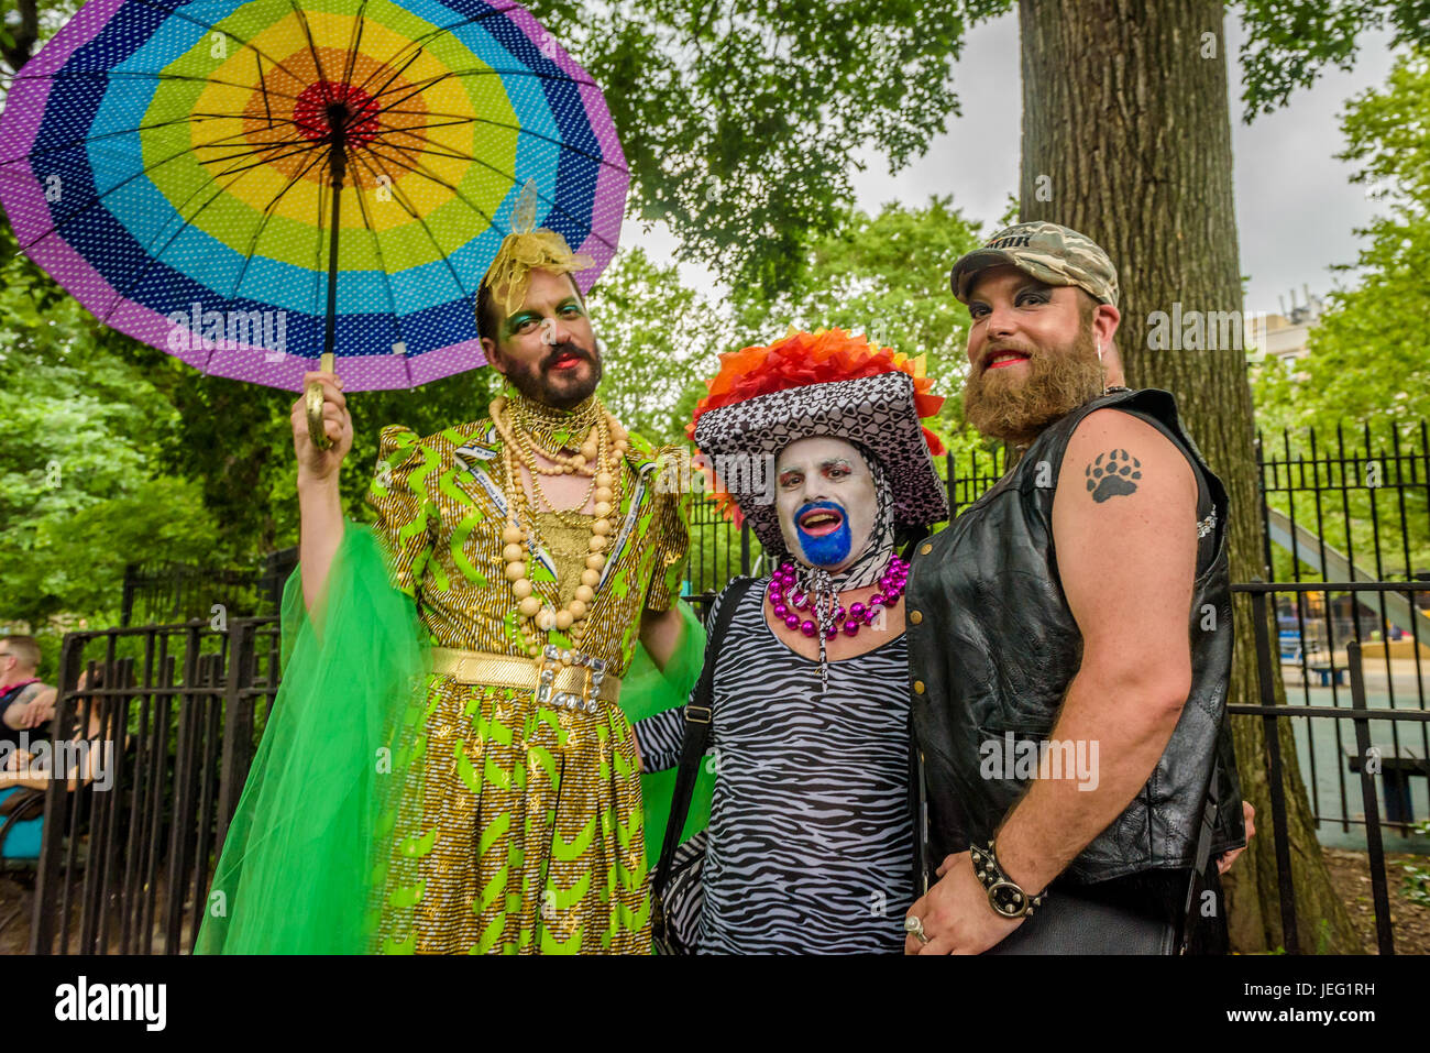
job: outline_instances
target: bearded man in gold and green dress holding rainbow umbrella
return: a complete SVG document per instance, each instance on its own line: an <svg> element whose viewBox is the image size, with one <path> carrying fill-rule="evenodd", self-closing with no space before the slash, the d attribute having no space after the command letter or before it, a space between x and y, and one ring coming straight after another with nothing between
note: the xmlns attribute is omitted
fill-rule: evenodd
<svg viewBox="0 0 1430 1053"><path fill-rule="evenodd" d="M416 604L420 635L435 644L422 715L390 745L369 741L345 764L362 765L368 747L419 758L393 768L400 790L376 788L386 797L382 826L392 823L368 848L382 876L370 893L383 950L649 949L639 761L618 705L621 678L644 644L675 678L672 697L684 694L704 635L675 602L686 531L679 495L652 482L664 451L626 432L595 396L601 353L571 278L588 265L549 230L511 235L478 296L478 326L515 391L486 416L436 435L383 429L369 495L376 534L396 588ZM370 582L360 531L343 529L345 398L330 375L310 379L325 385L332 446L312 442L299 399L307 642L339 664L368 640L420 658L392 609L400 601L363 612L325 594L380 585ZM383 611L392 625L363 624ZM333 668L305 682L303 704L327 698L343 675ZM257 770L255 785L265 777ZM216 887L267 884L242 877L243 866L226 848ZM245 906L242 890L235 900Z"/></svg>

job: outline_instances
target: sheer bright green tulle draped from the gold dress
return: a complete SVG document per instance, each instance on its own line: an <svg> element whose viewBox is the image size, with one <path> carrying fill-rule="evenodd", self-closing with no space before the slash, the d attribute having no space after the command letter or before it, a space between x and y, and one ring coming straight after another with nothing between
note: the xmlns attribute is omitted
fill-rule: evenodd
<svg viewBox="0 0 1430 1053"><path fill-rule="evenodd" d="M686 701L705 634L686 631L665 671L636 648L622 678L632 721ZM214 868L199 954L362 954L380 949L380 911L398 793L430 675L412 598L392 587L375 532L347 522L313 614L300 569L283 589L283 680ZM412 773L420 774L420 773ZM642 777L646 857L655 860L674 771ZM709 817L702 773L686 836ZM654 863L652 863L654 866ZM410 907L408 907L410 908Z"/></svg>

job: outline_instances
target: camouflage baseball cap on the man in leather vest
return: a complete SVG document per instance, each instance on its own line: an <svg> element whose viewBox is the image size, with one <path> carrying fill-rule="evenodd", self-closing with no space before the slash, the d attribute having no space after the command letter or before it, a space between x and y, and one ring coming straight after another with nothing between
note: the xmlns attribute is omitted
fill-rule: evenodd
<svg viewBox="0 0 1430 1053"><path fill-rule="evenodd" d="M980 270L1015 266L1048 285L1075 285L1100 303L1117 306L1117 268L1087 235L1057 223L1014 223L995 233L981 249L964 255L950 275L954 296L968 302Z"/></svg>

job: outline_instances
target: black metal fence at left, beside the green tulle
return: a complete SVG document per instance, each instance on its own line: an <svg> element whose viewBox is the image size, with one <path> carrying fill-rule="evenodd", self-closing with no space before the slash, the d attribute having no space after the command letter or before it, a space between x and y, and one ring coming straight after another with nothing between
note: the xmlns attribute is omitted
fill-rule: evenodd
<svg viewBox="0 0 1430 1053"><path fill-rule="evenodd" d="M186 953L277 691L276 619L69 634L60 680L30 951Z"/></svg>

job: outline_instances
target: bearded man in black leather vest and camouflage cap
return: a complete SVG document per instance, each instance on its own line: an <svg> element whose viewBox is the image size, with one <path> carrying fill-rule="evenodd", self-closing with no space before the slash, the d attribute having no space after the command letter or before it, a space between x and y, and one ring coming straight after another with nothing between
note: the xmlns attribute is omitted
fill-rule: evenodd
<svg viewBox="0 0 1430 1053"><path fill-rule="evenodd" d="M907 950L1173 953L1193 891L1187 936L1224 944L1217 870L1250 830L1226 491L1173 396L1123 386L1117 270L1091 239L1020 223L951 280L968 421L1021 456L914 558Z"/></svg>

